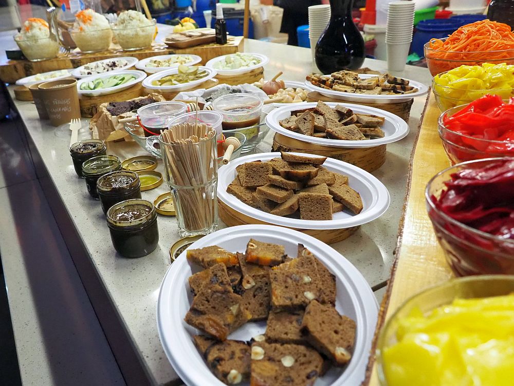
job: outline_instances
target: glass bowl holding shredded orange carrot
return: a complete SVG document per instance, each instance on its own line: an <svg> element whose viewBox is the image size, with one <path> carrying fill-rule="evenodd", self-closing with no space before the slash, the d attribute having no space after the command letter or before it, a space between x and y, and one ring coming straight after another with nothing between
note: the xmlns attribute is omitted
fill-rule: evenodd
<svg viewBox="0 0 514 386"><path fill-rule="evenodd" d="M445 41L446 39L447 38L440 40ZM423 50L428 69L432 76L444 73L464 64L468 66L480 65L482 63L514 64L514 49L475 52L442 51L430 48L429 43L430 42L425 43Z"/></svg>

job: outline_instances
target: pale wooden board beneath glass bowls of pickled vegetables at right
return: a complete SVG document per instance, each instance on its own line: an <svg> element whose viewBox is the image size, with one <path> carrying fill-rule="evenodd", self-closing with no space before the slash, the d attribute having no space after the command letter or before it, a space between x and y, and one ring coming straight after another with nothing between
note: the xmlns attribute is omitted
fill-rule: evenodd
<svg viewBox="0 0 514 386"><path fill-rule="evenodd" d="M400 224L401 231L396 247L397 257L387 293L382 301L377 334L373 343L374 349L378 331L403 302L423 289L453 277L446 263L443 249L435 237L425 206L425 188L428 181L439 171L450 166L437 134L439 115L440 111L435 98L430 94L413 152L406 211ZM372 353L375 352L374 349ZM380 386L373 355L363 384Z"/></svg>

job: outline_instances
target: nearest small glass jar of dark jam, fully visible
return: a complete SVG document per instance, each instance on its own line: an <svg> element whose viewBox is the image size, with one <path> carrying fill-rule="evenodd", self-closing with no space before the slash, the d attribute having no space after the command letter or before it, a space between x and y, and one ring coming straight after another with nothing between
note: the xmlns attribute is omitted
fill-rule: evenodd
<svg viewBox="0 0 514 386"><path fill-rule="evenodd" d="M107 210L107 225L114 249L124 257L152 253L159 242L157 212L150 201L132 199Z"/></svg>

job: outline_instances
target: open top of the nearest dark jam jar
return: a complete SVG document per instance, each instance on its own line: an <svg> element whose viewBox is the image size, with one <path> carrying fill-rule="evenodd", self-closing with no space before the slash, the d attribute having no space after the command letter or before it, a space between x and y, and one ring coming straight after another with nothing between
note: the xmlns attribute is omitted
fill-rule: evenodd
<svg viewBox="0 0 514 386"><path fill-rule="evenodd" d="M156 217L155 208L150 201L134 198L111 206L107 210L107 225L117 229L128 228L141 225Z"/></svg>

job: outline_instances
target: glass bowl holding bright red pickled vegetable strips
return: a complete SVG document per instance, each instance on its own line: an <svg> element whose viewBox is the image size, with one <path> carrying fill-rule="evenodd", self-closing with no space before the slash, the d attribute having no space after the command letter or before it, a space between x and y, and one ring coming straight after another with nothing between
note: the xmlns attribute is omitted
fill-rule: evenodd
<svg viewBox="0 0 514 386"><path fill-rule="evenodd" d="M446 116L452 116L456 112L464 109L467 104L446 110L439 116L438 132L446 155L452 165L472 160L480 160L491 157L514 156L514 142L492 141L490 139L474 138L469 135L457 133L448 129L444 124ZM510 150L494 151L494 146L505 146L510 144Z"/></svg>

